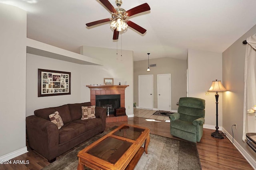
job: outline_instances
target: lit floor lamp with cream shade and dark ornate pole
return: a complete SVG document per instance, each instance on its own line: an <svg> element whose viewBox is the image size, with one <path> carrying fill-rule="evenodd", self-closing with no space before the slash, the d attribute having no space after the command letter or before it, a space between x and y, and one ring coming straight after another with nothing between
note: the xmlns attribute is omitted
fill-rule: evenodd
<svg viewBox="0 0 256 170"><path fill-rule="evenodd" d="M218 127L218 92L225 92L227 91L226 88L222 85L220 81L217 79L215 81L212 81L212 86L209 88L208 92L216 92L215 98L216 98L216 131L212 132L211 135L212 137L219 138L219 139L224 139L224 135L219 132L219 127Z"/></svg>

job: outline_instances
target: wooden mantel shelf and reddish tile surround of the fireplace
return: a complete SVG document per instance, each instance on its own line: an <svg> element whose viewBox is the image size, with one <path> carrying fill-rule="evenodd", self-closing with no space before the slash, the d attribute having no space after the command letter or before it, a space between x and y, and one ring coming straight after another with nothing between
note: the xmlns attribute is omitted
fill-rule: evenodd
<svg viewBox="0 0 256 170"><path fill-rule="evenodd" d="M96 104L96 95L120 94L120 106L125 107L125 88L129 85L86 85L90 88L92 105Z"/></svg>

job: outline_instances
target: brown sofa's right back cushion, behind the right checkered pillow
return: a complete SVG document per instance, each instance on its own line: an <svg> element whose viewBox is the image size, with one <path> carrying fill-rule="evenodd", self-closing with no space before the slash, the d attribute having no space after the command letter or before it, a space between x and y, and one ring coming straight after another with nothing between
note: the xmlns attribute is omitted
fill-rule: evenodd
<svg viewBox="0 0 256 170"><path fill-rule="evenodd" d="M68 104L72 121L81 119L81 117L82 117L81 107L82 106L92 106L92 104L91 104L91 102Z"/></svg>

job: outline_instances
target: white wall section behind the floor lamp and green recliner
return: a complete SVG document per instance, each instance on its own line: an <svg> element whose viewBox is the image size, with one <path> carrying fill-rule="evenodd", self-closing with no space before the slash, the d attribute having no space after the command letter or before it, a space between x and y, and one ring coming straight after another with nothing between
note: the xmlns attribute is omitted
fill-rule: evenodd
<svg viewBox="0 0 256 170"><path fill-rule="evenodd" d="M215 79L222 81L222 54L188 49L188 96L205 100L205 125L213 127L216 126L215 92L210 92L209 96L206 96L205 92L209 90ZM220 127L222 126L222 93L218 94L218 126Z"/></svg>

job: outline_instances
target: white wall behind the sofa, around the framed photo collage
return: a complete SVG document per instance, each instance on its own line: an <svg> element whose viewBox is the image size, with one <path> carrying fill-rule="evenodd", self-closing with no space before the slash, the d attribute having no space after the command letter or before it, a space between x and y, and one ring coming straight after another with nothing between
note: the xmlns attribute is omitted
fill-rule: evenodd
<svg viewBox="0 0 256 170"><path fill-rule="evenodd" d="M38 97L38 68L71 72L71 94ZM68 103L80 103L80 68L80 64L27 54L26 116L34 115L36 109L61 106ZM89 101L90 100L86 100L84 102Z"/></svg>

